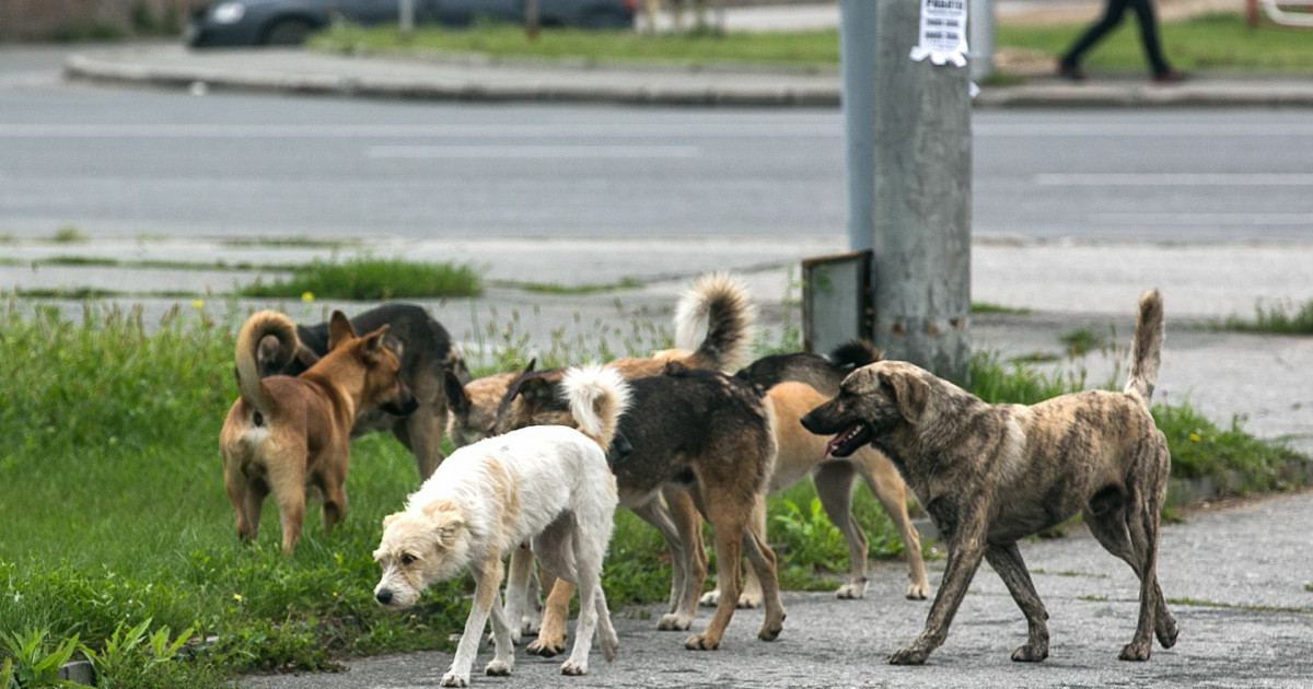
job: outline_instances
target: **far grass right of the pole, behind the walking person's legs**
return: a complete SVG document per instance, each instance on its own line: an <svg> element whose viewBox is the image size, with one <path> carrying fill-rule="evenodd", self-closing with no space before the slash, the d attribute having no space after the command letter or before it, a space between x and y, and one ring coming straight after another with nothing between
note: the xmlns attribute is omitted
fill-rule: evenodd
<svg viewBox="0 0 1313 689"><path fill-rule="evenodd" d="M1056 60L1086 28L1086 24L1001 25L995 29L994 45L998 50L1039 51ZM1133 20L1124 21L1087 54L1085 66L1095 71L1146 72L1149 67L1137 31ZM1161 34L1169 59L1182 70L1313 71L1308 31L1272 25L1250 28L1238 13L1161 22Z"/></svg>

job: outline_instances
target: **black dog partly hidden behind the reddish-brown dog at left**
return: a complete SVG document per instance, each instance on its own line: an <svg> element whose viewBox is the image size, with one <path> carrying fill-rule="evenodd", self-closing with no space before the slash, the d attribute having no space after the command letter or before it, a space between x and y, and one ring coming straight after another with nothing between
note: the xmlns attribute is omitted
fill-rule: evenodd
<svg viewBox="0 0 1313 689"><path fill-rule="evenodd" d="M442 377L450 371L462 383L469 382L465 361L452 345L446 328L418 304L386 303L358 314L351 319L351 325L356 332L389 327L383 344L397 354L400 362L398 375L419 402L419 407L406 416L378 407L361 409L351 436L391 430L415 455L420 480L427 479L442 462L442 433L448 424ZM277 339L264 337L256 354L260 375L299 375L328 352L330 339L328 323L297 325L299 345L289 358L280 357Z"/></svg>

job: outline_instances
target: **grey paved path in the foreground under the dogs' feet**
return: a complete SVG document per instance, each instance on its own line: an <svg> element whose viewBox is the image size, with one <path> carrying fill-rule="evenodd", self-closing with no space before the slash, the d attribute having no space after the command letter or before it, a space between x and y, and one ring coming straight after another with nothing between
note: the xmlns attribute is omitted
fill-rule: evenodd
<svg viewBox="0 0 1313 689"><path fill-rule="evenodd" d="M1159 579L1180 625L1171 650L1157 644L1148 663L1117 660L1130 640L1137 584L1130 570L1087 533L1022 545L1049 612L1050 656L1020 664L1008 658L1025 639L1025 622L1003 583L982 566L958 609L948 642L924 667L892 667L885 658L924 623L928 601L902 598L906 571L884 563L867 597L839 601L829 593L786 593L788 619L775 643L756 640L760 610L739 610L720 651L683 648L687 634L655 630L659 606L614 614L620 658L593 651L590 673L563 679L562 658L517 650L515 675L486 677L484 650L471 686L674 688L674 686L1267 686L1313 682L1313 549L1306 525L1313 493L1283 496L1236 509L1192 514L1166 525ZM931 563L937 591L943 562ZM702 610L701 629L710 617ZM572 625L572 622L571 622ZM571 626L572 629L572 626ZM418 652L361 659L347 672L247 677L259 689L365 689L439 686L450 655Z"/></svg>

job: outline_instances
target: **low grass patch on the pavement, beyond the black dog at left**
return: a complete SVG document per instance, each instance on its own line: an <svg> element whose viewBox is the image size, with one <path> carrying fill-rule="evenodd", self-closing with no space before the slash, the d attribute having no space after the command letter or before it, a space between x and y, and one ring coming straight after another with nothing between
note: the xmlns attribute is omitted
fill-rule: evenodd
<svg viewBox="0 0 1313 689"><path fill-rule="evenodd" d="M243 287L244 297L301 297L377 301L415 297L477 297L478 272L469 264L425 264L403 259L312 261L273 283Z"/></svg>

